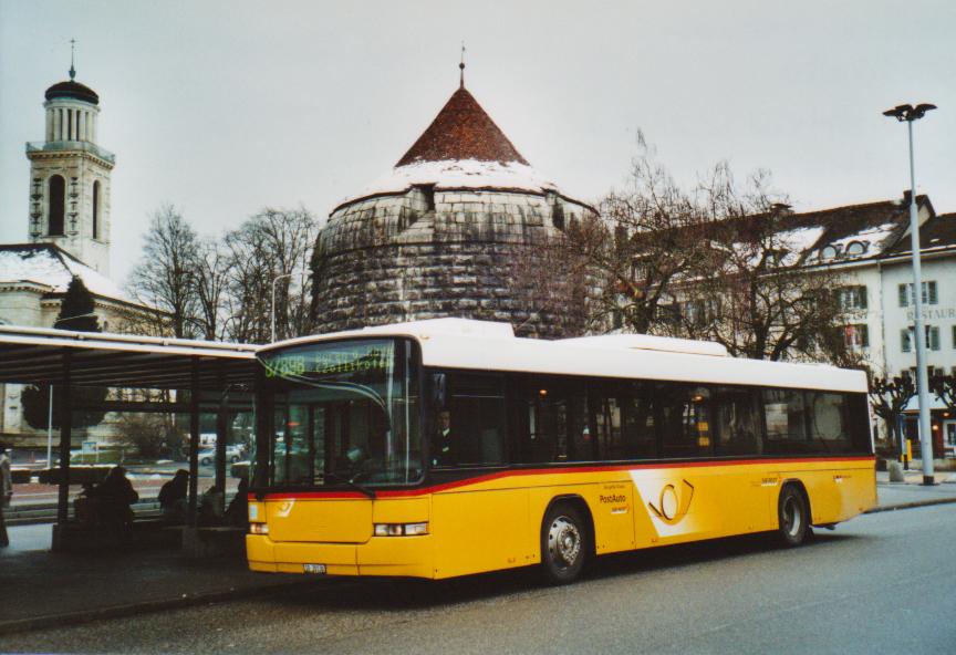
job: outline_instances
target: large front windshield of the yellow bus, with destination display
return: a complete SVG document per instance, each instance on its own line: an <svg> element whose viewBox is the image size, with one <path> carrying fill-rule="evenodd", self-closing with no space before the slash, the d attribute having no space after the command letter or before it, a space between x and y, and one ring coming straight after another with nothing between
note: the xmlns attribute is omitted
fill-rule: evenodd
<svg viewBox="0 0 956 655"><path fill-rule="evenodd" d="M422 476L415 345L401 339L261 353L269 487L408 485Z"/></svg>

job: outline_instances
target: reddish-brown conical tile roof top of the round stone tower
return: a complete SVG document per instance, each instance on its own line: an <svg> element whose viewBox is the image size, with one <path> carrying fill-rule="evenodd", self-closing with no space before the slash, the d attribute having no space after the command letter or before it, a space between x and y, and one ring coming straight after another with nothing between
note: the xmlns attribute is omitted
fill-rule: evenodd
<svg viewBox="0 0 956 655"><path fill-rule="evenodd" d="M521 153L464 86L451 95L428 128L395 166L463 159L501 164L518 162L528 165Z"/></svg>

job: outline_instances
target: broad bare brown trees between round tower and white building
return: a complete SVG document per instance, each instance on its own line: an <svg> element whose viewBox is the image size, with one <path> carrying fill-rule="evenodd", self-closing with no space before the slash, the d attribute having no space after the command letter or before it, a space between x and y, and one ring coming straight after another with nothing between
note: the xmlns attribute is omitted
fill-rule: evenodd
<svg viewBox="0 0 956 655"><path fill-rule="evenodd" d="M684 190L643 139L641 147L626 189L604 198L600 218L555 241L562 270L598 281L590 330L706 339L759 360L859 364L838 333L839 275L807 266L812 230L767 174L739 185L718 164ZM578 261L586 266L567 266Z"/></svg>

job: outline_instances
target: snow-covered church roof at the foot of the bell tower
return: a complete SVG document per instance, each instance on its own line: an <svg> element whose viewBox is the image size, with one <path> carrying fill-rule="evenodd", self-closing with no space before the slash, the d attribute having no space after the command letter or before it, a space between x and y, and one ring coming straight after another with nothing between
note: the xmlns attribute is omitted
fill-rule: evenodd
<svg viewBox="0 0 956 655"><path fill-rule="evenodd" d="M0 246L0 283L34 282L49 287L53 293L65 293L74 275L83 280L94 295L135 302L113 280L73 259L56 246Z"/></svg>

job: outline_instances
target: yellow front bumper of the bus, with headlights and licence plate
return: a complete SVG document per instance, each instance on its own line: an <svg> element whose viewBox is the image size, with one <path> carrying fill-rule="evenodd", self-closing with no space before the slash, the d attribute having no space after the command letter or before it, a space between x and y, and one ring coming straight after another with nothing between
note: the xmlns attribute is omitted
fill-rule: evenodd
<svg viewBox="0 0 956 655"><path fill-rule="evenodd" d="M249 569L268 573L306 573L322 564L328 575L434 578L432 536L373 537L365 543L272 541L247 534Z"/></svg>

